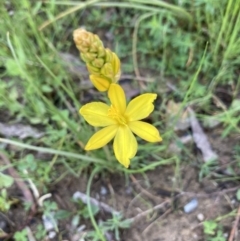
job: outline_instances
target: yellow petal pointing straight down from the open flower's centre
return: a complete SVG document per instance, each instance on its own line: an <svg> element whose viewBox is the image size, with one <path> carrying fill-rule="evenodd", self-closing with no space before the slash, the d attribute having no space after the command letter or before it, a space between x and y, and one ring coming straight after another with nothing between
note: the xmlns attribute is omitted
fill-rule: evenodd
<svg viewBox="0 0 240 241"><path fill-rule="evenodd" d="M137 140L128 126L119 126L113 142L113 150L117 160L126 168L130 159L136 155Z"/></svg>

